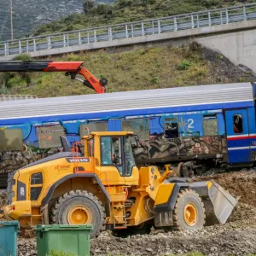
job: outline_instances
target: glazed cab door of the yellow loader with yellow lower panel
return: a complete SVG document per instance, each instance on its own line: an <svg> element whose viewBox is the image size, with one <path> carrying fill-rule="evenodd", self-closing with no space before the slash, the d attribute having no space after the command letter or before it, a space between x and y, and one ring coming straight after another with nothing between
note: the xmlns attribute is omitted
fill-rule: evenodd
<svg viewBox="0 0 256 256"><path fill-rule="evenodd" d="M116 184L137 184L130 137L101 137L101 171ZM114 181L115 180L115 181Z"/></svg>

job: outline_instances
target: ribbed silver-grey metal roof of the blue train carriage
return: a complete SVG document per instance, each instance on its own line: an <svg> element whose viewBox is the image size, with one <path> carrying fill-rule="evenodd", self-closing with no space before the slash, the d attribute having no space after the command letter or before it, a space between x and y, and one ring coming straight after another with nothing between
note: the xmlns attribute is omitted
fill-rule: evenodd
<svg viewBox="0 0 256 256"><path fill-rule="evenodd" d="M0 119L246 101L253 101L252 84L212 84L2 102Z"/></svg>

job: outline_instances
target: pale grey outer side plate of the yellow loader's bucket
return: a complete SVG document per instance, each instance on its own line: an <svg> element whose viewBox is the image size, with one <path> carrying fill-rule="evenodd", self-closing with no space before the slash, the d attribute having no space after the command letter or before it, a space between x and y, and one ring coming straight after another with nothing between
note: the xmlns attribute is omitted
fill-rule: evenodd
<svg viewBox="0 0 256 256"><path fill-rule="evenodd" d="M224 190L218 183L211 180L212 185L208 189L208 195L212 201L212 206L216 218L221 224L224 224L230 217L231 212L236 207L238 200Z"/></svg>

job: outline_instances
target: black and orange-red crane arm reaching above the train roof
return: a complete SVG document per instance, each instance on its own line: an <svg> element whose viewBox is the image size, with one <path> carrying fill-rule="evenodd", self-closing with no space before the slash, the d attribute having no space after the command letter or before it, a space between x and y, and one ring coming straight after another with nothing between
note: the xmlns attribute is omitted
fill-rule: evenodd
<svg viewBox="0 0 256 256"><path fill-rule="evenodd" d="M0 72L65 72L71 79L81 81L85 86L96 91L105 93L107 79L96 79L90 71L81 67L84 61L0 61ZM77 78L77 74L84 77Z"/></svg>

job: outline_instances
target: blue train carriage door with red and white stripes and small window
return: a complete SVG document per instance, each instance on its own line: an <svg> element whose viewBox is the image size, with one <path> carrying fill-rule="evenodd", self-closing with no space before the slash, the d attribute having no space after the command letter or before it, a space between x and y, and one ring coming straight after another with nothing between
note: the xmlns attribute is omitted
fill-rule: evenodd
<svg viewBox="0 0 256 256"><path fill-rule="evenodd" d="M229 163L249 162L250 139L247 109L226 111L225 124Z"/></svg>

